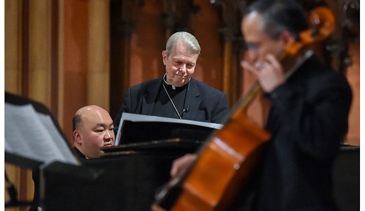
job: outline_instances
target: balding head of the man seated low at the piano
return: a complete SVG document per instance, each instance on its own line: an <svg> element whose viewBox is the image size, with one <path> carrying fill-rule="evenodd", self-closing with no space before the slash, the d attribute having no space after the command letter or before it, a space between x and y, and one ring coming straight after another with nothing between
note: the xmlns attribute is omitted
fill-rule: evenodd
<svg viewBox="0 0 365 211"><path fill-rule="evenodd" d="M97 158L101 147L114 146L114 126L109 113L97 105L79 109L72 119L74 150L81 159Z"/></svg>

